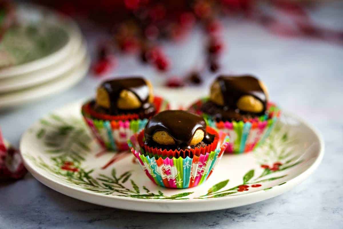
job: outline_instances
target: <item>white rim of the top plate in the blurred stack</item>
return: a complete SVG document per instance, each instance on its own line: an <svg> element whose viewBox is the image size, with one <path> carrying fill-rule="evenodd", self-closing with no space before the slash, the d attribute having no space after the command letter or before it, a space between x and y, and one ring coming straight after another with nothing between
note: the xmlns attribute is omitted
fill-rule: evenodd
<svg viewBox="0 0 343 229"><path fill-rule="evenodd" d="M19 21L32 22L35 24L47 23L52 26L56 26L62 31L66 32L66 39L63 39L58 50L51 50L51 54L26 62L21 65L15 65L7 68L0 69L0 78L13 77L16 75L23 75L28 72L32 72L38 69L46 68L52 64L55 64L62 59L66 58L70 53L75 41L71 38L73 33L80 34L80 30L76 23L67 17L62 17L46 8L34 7L32 5L20 5L18 9ZM59 41L61 42L61 41Z"/></svg>

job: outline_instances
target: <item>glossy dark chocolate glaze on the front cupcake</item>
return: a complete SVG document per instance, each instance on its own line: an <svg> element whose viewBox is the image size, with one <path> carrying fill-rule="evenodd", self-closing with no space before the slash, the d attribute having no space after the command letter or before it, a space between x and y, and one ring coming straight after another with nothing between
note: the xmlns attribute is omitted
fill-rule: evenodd
<svg viewBox="0 0 343 229"><path fill-rule="evenodd" d="M205 133L203 139L205 144L213 141L214 136L206 134L206 123L202 117L181 110L163 111L152 117L146 124L144 136L147 144L153 146L156 145L153 140L154 133L164 130L174 139L176 149L185 150L191 148L189 144L198 129Z"/></svg>

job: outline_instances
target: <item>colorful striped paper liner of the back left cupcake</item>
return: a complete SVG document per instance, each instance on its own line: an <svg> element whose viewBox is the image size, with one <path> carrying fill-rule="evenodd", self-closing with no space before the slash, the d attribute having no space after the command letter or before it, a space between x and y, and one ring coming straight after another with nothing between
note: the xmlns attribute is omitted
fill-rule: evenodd
<svg viewBox="0 0 343 229"><path fill-rule="evenodd" d="M117 117L129 118L133 117L133 115L112 116L111 119L98 119L90 114L87 109L87 104L82 107L82 115L85 123L99 145L107 150L128 150L129 146L127 141L130 139L130 136L142 130L149 121L147 118L117 119ZM154 104L157 112L169 109L168 101L161 97L155 96Z"/></svg>

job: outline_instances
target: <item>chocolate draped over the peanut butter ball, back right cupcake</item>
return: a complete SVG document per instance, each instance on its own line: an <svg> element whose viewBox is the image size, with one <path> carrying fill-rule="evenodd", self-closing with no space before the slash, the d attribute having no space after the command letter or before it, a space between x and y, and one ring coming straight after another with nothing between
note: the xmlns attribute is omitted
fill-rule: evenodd
<svg viewBox="0 0 343 229"><path fill-rule="evenodd" d="M236 110L237 102L243 95L251 95L263 104L264 113L267 108L267 96L264 94L259 80L253 76L220 76L217 78L224 97L224 110Z"/></svg>

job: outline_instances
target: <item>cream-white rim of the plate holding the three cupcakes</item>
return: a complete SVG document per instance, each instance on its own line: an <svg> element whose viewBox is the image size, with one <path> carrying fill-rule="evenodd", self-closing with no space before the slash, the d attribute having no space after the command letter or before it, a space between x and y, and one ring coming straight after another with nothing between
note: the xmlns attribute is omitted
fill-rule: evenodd
<svg viewBox="0 0 343 229"><path fill-rule="evenodd" d="M83 100L80 100L83 101ZM68 103L60 108L55 109L59 110L62 109L65 106L76 104L76 102L80 101L74 101L72 103ZM106 196L99 193L91 193L86 190L82 190L81 188L69 186L68 184L64 184L62 182L56 181L54 179L51 179L51 177L46 177L44 174L40 174L38 171L36 171L31 165L31 162L29 162L27 159L25 159L25 156L23 156L23 141L26 135L30 134L28 130L25 131L25 133L22 135L22 138L20 140L20 151L23 157L24 165L30 171L30 173L41 183L44 185L52 188L53 190L60 192L64 195L71 196L73 198L79 199L81 201L97 204L97 205L103 205L107 207L114 207L114 208L120 208L120 209L126 209L126 210L137 210L137 211L145 211L145 212L158 212L158 213L186 213L186 212L199 212L199 211L209 211L209 210L220 210L220 209L226 209L226 208L233 208L233 207L239 207L244 206L247 204L257 203L260 201L263 201L265 199L269 199L272 197L275 197L277 195L280 195L284 192L289 191L291 188L293 188L295 185L301 183L304 181L310 174L312 174L322 161L322 158L324 156L324 140L322 137L322 134L319 132L319 130L313 126L312 124L309 124L304 118L299 117L296 114L293 114L291 112L283 111L288 116L291 116L304 125L306 125L316 136L319 142L319 153L316 157L315 161L303 172L301 172L299 175L297 175L295 178L292 178L291 180L287 181L286 184L281 186L273 186L270 190L258 190L255 192L246 193L244 195L235 195L235 196L226 196L225 198L214 198L214 199L192 199L191 201L184 201L184 200L172 200L172 201L161 201L158 199L134 199L134 198L128 198L128 197L121 197L121 196ZM31 129L33 126L35 126L37 122L35 122L29 129ZM188 189L191 190L191 189ZM255 197L261 195L262 198L256 199ZM96 200L95 200L96 199ZM110 200L110 201L109 201ZM209 203L206 208L197 208L196 206L201 202ZM218 203L221 202L222 204L219 206L213 206L210 203ZM230 203L231 202L231 203ZM144 207L147 203L154 204L153 206L149 208ZM169 205L169 206L168 206ZM172 205L172 206L171 206ZM190 207L190 205L192 205ZM187 208L181 208L180 206L187 207Z"/></svg>

